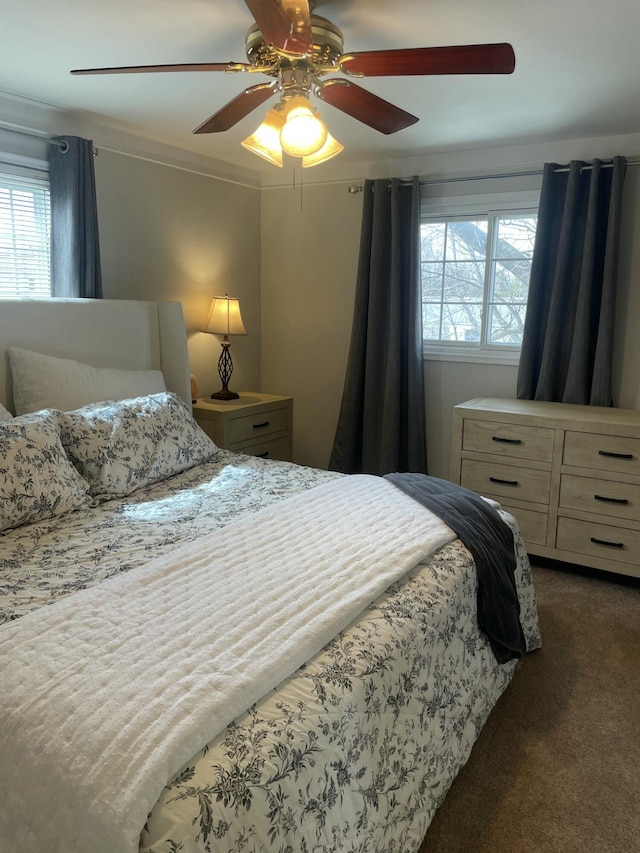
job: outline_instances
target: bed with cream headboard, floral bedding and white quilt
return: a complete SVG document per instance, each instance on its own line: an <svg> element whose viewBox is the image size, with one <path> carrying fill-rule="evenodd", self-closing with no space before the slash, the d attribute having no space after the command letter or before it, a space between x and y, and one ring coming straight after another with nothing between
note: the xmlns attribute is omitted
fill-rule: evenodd
<svg viewBox="0 0 640 853"><path fill-rule="evenodd" d="M521 657L455 523L216 448L178 303L1 309L0 849L416 851Z"/></svg>

